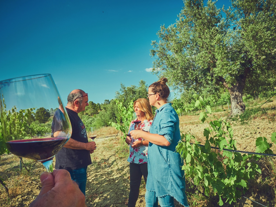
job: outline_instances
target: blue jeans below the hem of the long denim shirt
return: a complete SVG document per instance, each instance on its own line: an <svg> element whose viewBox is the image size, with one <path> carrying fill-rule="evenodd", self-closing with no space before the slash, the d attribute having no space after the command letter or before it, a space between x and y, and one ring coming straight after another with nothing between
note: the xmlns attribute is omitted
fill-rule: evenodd
<svg viewBox="0 0 276 207"><path fill-rule="evenodd" d="M146 207L158 207L158 202L161 207L175 207L174 197L165 195L163 197L156 197L155 191L146 191L145 195Z"/></svg>

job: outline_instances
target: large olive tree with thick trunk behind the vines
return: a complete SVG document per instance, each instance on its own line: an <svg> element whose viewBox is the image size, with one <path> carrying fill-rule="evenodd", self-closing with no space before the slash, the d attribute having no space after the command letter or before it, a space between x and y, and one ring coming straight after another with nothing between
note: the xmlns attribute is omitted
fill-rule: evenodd
<svg viewBox="0 0 276 207"><path fill-rule="evenodd" d="M274 78L276 68L276 0L232 0L229 8L215 2L184 0L176 23L161 26L152 41L153 72L171 86L225 87L231 114L245 110L242 93L250 81ZM257 84L252 84L257 86Z"/></svg>

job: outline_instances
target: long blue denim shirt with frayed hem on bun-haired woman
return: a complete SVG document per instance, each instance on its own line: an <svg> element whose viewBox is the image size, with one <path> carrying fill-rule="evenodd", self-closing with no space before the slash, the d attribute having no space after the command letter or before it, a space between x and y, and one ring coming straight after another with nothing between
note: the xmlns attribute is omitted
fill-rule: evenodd
<svg viewBox="0 0 276 207"><path fill-rule="evenodd" d="M173 196L182 205L189 206L185 194L183 162L176 146L181 140L179 118L171 104L165 104L156 110L150 133L164 136L170 146L149 143L148 179L146 189L155 191L157 197Z"/></svg>

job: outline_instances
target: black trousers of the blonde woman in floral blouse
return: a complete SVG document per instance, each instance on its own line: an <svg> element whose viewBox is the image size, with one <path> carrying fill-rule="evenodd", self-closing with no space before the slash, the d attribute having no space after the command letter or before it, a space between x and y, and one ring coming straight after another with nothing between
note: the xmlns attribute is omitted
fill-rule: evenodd
<svg viewBox="0 0 276 207"><path fill-rule="evenodd" d="M136 164L129 163L130 171L130 192L128 196L128 207L135 206L139 196L139 188L141 184L142 175L147 183L148 177L148 163Z"/></svg>

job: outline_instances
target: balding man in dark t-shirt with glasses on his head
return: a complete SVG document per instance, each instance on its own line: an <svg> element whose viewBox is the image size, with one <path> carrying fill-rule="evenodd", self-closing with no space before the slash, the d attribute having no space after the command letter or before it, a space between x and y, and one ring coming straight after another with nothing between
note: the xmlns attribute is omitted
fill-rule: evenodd
<svg viewBox="0 0 276 207"><path fill-rule="evenodd" d="M90 153L96 149L95 142L88 142L86 129L78 113L88 106L88 94L83 90L75 89L67 97L66 111L72 125L72 136L56 155L56 169L68 170L72 180L76 181L85 195L87 181L87 166L92 164ZM55 117L53 123L55 121ZM52 125L52 134L57 137L62 126Z"/></svg>

